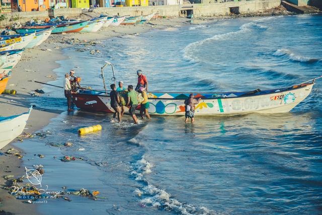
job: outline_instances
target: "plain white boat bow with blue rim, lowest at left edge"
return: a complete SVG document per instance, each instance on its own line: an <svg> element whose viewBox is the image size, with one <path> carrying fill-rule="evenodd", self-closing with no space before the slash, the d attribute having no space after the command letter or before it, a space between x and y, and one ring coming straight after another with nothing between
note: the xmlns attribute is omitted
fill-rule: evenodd
<svg viewBox="0 0 322 215"><path fill-rule="evenodd" d="M29 111L26 113L15 116L0 117L0 149L7 146L23 132L31 110L32 108L29 108Z"/></svg>

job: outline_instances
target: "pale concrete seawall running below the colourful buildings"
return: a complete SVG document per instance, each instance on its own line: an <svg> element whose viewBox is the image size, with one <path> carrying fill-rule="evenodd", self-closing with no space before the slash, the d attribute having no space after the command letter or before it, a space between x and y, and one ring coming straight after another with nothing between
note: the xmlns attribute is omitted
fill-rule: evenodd
<svg viewBox="0 0 322 215"><path fill-rule="evenodd" d="M167 5L146 7L122 7L122 8L97 8L93 12L97 14L108 14L110 16L140 16L158 12L159 16L176 17L180 14L193 14L195 17L202 16L226 16L229 13L255 13L278 7L281 0L241 0L240 2L191 4L191 5ZM31 19L45 20L47 17L76 17L82 14L82 9L49 9L43 12L15 12L7 13L1 25L11 25L14 22L26 22Z"/></svg>

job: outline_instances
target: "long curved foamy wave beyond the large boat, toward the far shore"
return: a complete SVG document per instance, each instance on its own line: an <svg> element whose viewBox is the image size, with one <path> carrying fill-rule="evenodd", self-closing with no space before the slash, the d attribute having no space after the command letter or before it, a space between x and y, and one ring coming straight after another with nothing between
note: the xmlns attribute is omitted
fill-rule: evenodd
<svg viewBox="0 0 322 215"><path fill-rule="evenodd" d="M228 32L228 33L224 33L224 34L217 34L212 37L206 38L204 40L190 43L189 45L187 45L184 48L183 57L184 57L184 59L186 59L188 61L197 62L197 61L199 61L199 59L198 59L198 57L194 56L192 50L196 49L198 46L203 45L205 42L213 41L213 40L226 40L226 39L230 39L231 37L238 35L240 33L246 33L246 32L252 31L252 30L266 30L266 29L268 29L267 26L257 24L256 22L246 23L244 25L241 25L238 31Z"/></svg>

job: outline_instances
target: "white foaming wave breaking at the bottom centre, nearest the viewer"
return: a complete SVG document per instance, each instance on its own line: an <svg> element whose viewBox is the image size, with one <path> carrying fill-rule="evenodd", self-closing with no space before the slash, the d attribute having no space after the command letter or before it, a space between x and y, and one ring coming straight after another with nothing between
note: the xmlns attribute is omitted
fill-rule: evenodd
<svg viewBox="0 0 322 215"><path fill-rule="evenodd" d="M157 188L144 178L145 174L152 172L153 165L144 159L137 161L132 166L131 175L136 181L143 183L143 186L135 189L135 193L141 196L140 205L148 205L157 207L158 209L164 209L173 211L179 214L215 214L214 211L209 210L203 206L195 206L192 204L181 203L167 191Z"/></svg>

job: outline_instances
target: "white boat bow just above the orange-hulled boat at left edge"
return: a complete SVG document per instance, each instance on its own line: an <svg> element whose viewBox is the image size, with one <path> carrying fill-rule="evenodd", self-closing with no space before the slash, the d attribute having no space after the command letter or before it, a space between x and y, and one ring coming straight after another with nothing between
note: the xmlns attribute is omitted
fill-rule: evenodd
<svg viewBox="0 0 322 215"><path fill-rule="evenodd" d="M21 59L23 49L0 52L0 79L8 75Z"/></svg>

